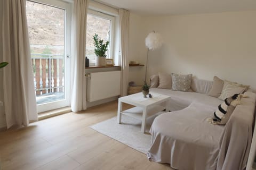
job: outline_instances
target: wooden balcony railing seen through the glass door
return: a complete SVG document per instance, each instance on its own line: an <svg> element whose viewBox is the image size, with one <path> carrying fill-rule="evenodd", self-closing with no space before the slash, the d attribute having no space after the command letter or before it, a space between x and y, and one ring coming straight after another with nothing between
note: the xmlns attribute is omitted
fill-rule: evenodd
<svg viewBox="0 0 256 170"><path fill-rule="evenodd" d="M64 91L63 55L31 54L36 96Z"/></svg>

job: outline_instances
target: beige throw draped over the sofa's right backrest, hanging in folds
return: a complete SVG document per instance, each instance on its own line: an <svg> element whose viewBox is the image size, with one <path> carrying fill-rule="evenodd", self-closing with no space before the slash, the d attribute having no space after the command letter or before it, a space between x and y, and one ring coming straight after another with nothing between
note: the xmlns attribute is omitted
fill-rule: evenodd
<svg viewBox="0 0 256 170"><path fill-rule="evenodd" d="M245 169L249 156L254 124L256 94L245 92L236 106L220 140L217 169Z"/></svg>

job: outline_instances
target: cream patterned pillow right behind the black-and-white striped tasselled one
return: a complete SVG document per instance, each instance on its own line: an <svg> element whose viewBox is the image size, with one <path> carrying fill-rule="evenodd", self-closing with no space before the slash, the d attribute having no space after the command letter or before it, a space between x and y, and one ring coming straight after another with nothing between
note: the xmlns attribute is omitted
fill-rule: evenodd
<svg viewBox="0 0 256 170"><path fill-rule="evenodd" d="M242 94L248 88L249 88L249 86L244 86L242 84L233 83L233 82L225 80L223 89L221 91L221 95L219 96L219 99L225 100L226 98L231 97L235 94Z"/></svg>

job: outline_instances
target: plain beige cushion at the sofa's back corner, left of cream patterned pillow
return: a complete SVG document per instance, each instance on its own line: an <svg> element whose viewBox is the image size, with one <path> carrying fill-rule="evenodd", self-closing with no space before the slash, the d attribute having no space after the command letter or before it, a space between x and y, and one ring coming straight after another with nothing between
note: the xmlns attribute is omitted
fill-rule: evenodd
<svg viewBox="0 0 256 170"><path fill-rule="evenodd" d="M207 94L212 88L213 81L192 78L191 89L201 94Z"/></svg>

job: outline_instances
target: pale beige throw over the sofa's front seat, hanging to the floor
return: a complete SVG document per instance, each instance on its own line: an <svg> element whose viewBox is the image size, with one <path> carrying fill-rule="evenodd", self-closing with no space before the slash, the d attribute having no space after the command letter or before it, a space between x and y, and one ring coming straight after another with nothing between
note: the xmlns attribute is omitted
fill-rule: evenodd
<svg viewBox="0 0 256 170"><path fill-rule="evenodd" d="M215 170L224 126L207 122L215 108L192 103L181 111L159 115L151 125L148 158L174 169Z"/></svg>

